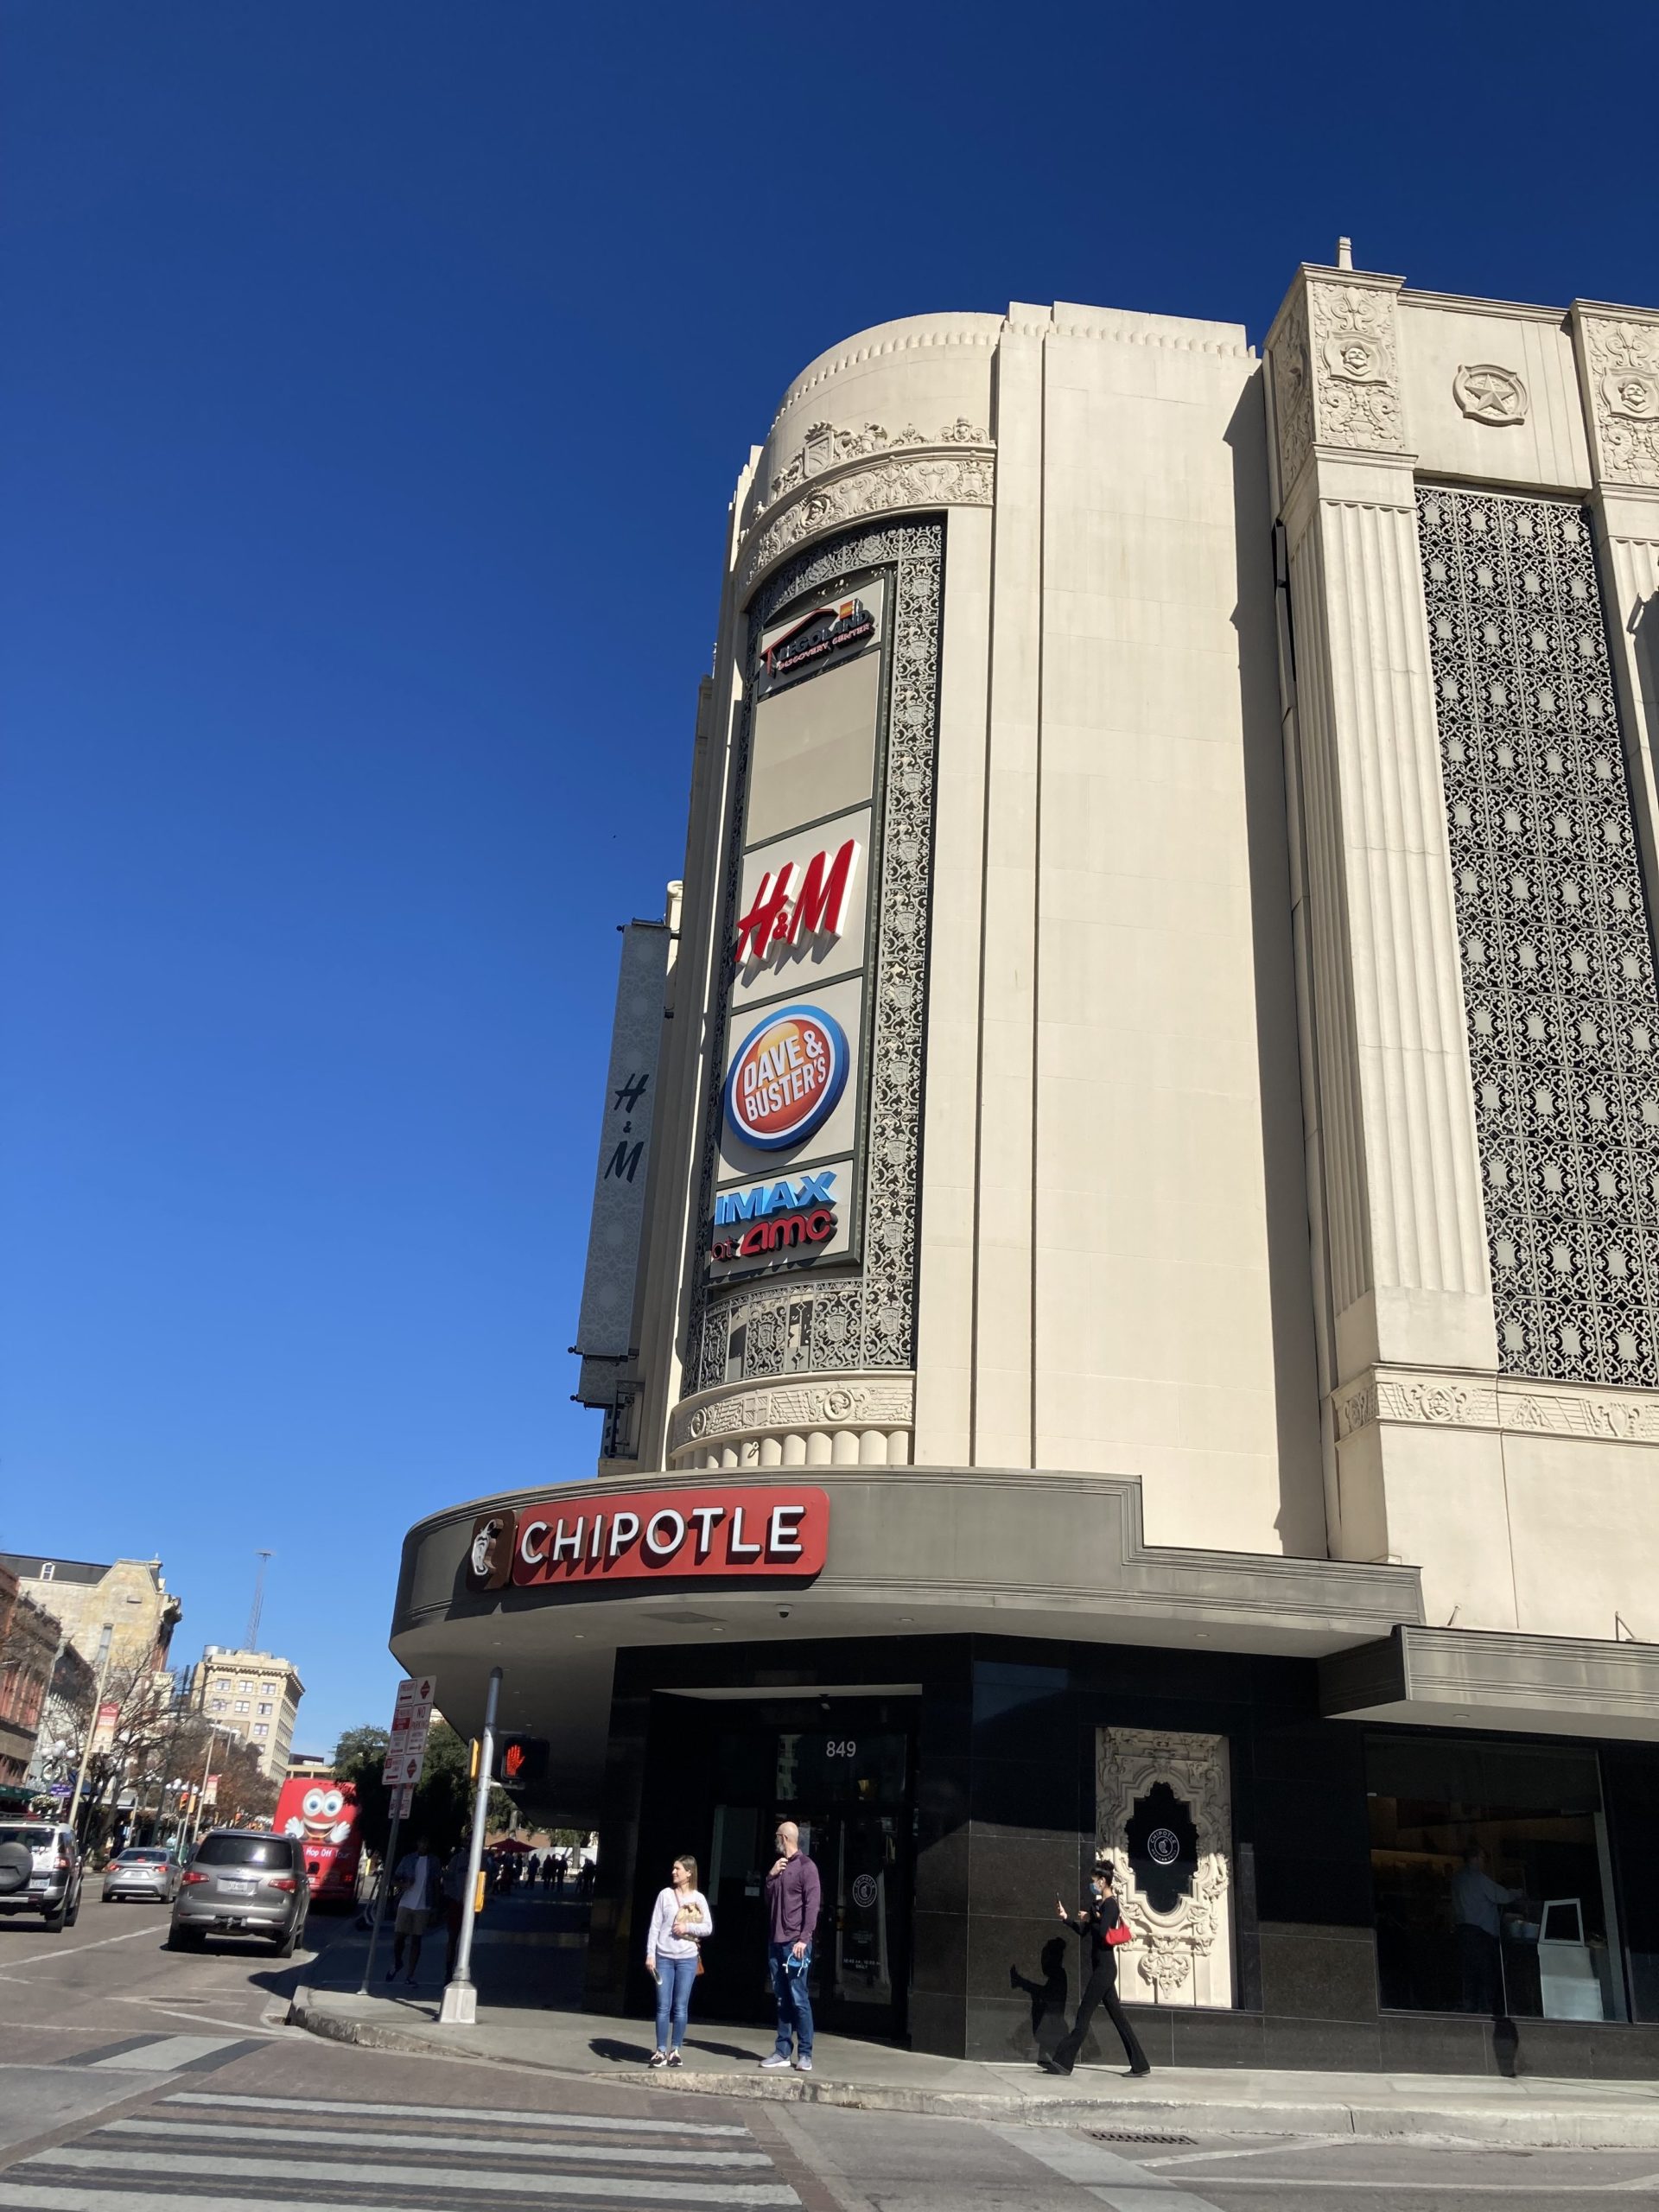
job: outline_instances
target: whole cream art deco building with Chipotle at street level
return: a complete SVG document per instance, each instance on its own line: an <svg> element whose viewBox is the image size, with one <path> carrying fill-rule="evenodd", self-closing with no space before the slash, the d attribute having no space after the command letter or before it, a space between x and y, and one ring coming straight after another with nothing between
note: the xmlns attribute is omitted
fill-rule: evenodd
<svg viewBox="0 0 1659 2212"><path fill-rule="evenodd" d="M595 2008L690 1845L752 2013L790 1814L841 2026L1029 2055L1108 1847L1155 2064L1659 2064L1659 314L1338 261L887 323L739 478L599 1473L394 1624Z"/></svg>

